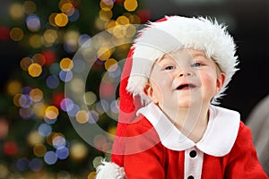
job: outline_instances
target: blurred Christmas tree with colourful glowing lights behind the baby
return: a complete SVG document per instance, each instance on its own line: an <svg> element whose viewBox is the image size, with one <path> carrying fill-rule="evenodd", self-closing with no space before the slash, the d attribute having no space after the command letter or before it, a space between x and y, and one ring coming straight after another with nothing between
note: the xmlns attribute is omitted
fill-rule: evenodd
<svg viewBox="0 0 269 179"><path fill-rule="evenodd" d="M117 85L104 82L100 87L100 81L106 72L119 79L116 64L126 57L130 44L115 44L135 33L116 28L148 20L149 13L141 6L136 0L11 2L8 24L0 27L0 40L15 41L28 55L20 59L20 70L0 94L0 178L94 177L94 166L104 155L109 158L102 151L112 143L102 135L89 136L93 143L84 141L69 117L78 125L98 123L115 134L117 123L110 118L117 118L118 98L101 100L100 93L117 96L111 94ZM66 97L65 84L74 81L73 90L82 87L74 72L87 70L87 63L74 61L74 55L102 30L110 36L100 37L111 39L92 40L99 46L82 95L89 110L82 110ZM109 47L107 41L118 47Z"/></svg>

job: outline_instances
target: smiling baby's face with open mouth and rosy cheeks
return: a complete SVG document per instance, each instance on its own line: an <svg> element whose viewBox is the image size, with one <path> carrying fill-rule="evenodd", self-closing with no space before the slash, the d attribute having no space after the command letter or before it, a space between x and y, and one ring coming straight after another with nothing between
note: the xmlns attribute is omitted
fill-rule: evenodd
<svg viewBox="0 0 269 179"><path fill-rule="evenodd" d="M152 67L146 95L162 110L209 106L221 89L225 74L203 51L181 49L164 55Z"/></svg>

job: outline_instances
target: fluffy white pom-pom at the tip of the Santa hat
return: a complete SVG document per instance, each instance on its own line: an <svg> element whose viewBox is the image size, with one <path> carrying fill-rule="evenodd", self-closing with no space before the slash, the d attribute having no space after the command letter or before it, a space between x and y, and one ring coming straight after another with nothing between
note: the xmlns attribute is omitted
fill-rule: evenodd
<svg viewBox="0 0 269 179"><path fill-rule="evenodd" d="M102 161L102 165L96 168L96 179L126 179L124 167L112 162Z"/></svg>

